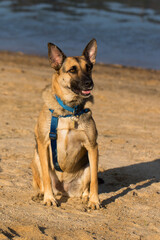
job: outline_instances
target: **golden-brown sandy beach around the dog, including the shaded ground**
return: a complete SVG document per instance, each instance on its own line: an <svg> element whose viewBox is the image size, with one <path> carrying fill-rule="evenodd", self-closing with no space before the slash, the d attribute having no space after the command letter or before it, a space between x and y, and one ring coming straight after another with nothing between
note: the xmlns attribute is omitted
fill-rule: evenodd
<svg viewBox="0 0 160 240"><path fill-rule="evenodd" d="M160 71L96 65L100 210L32 201L34 126L48 60L0 53L0 239L160 239Z"/></svg>

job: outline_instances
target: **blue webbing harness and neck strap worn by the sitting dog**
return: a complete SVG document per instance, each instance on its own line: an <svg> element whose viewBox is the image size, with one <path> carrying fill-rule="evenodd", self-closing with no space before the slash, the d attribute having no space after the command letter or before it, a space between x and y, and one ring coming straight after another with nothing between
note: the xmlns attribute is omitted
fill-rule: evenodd
<svg viewBox="0 0 160 240"><path fill-rule="evenodd" d="M63 107L65 110L72 113L72 114L68 114L68 115L64 115L64 116L60 115L58 117L54 117L53 116L54 110L49 109L50 112L52 113L49 137L50 137L50 141L51 141L53 164L54 164L54 168L57 171L63 172L62 169L60 168L59 164L58 164L58 161L57 161L57 126L58 126L58 119L60 117L66 118L66 117L80 116L83 113L89 112L90 109L89 108L82 109L79 105L75 106L74 108L71 108L71 107L65 105L59 97L57 97L56 95L55 95L55 97L56 97L57 102L61 105L61 107Z"/></svg>

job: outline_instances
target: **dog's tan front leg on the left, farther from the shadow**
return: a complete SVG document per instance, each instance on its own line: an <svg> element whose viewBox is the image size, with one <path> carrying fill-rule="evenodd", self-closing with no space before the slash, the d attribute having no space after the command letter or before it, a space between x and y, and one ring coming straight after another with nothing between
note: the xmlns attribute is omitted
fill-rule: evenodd
<svg viewBox="0 0 160 240"><path fill-rule="evenodd" d="M42 168L42 180L44 185L44 204L47 206L57 206L57 201L53 196L51 178L49 174L48 145L38 141L38 152Z"/></svg>

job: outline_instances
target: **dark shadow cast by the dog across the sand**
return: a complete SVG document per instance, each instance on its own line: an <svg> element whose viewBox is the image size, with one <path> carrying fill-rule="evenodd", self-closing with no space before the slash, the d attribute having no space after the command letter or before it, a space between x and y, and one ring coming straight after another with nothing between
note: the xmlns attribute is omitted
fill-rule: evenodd
<svg viewBox="0 0 160 240"><path fill-rule="evenodd" d="M160 182L160 159L151 162L138 163L130 166L108 169L98 174L100 180L99 194L116 192L125 188L121 193L103 200L102 206L114 202L117 198L126 195L133 189L138 190ZM145 181L145 182L144 182ZM136 184L133 188L131 184Z"/></svg>

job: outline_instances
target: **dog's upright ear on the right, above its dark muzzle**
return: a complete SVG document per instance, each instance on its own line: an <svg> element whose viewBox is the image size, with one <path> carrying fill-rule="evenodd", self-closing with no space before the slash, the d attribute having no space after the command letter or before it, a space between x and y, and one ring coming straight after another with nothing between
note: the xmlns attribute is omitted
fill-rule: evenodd
<svg viewBox="0 0 160 240"><path fill-rule="evenodd" d="M84 49L83 56L85 56L87 60L94 64L96 62L96 55L97 55L97 41L96 39L92 39Z"/></svg>

